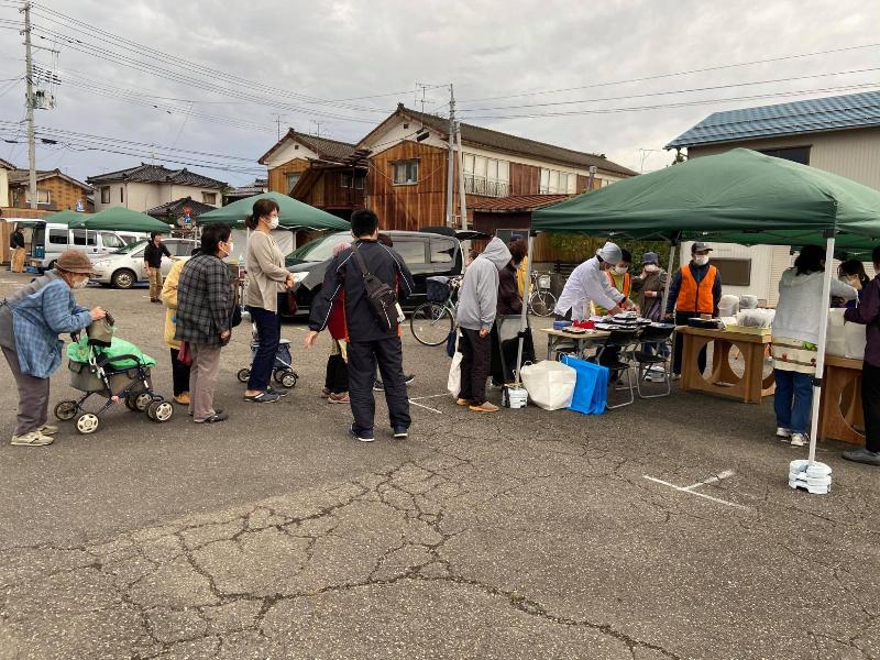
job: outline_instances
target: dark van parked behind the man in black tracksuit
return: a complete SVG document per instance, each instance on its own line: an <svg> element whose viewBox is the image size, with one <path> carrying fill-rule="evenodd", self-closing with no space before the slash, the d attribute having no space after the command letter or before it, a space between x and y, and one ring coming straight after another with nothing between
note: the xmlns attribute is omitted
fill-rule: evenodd
<svg viewBox="0 0 880 660"><path fill-rule="evenodd" d="M461 275L461 243L454 237L422 231L386 231L394 249L413 273L416 290L403 307L411 311L428 299L426 278L432 275ZM339 243L352 242L350 232L332 233L306 243L287 255L287 270L294 274L297 314L308 314L311 299L321 289L327 266Z"/></svg>

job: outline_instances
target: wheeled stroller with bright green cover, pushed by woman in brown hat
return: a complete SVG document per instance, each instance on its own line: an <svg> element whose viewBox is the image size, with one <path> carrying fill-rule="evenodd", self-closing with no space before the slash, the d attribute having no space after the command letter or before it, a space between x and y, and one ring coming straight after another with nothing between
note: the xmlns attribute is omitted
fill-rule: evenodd
<svg viewBox="0 0 880 660"><path fill-rule="evenodd" d="M81 341L74 336L67 358L70 386L84 395L77 400L61 402L55 406L55 417L63 421L76 418L76 430L80 433L97 431L101 415L122 400L129 410L146 413L157 424L174 417L174 406L156 394L150 382L150 369L155 361L134 344L117 338ZM82 407L92 394L107 399L95 413Z"/></svg>

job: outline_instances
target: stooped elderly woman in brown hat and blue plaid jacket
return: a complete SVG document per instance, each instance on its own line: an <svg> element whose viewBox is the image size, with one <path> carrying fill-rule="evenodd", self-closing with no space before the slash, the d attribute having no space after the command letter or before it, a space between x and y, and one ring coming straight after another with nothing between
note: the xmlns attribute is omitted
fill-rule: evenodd
<svg viewBox="0 0 880 660"><path fill-rule="evenodd" d="M105 317L100 307L88 310L74 299L73 289L89 283L91 262L85 252L67 250L55 270L0 301L0 346L19 388L19 415L12 444L52 444L57 428L48 419L48 377L61 366L63 332L78 332Z"/></svg>

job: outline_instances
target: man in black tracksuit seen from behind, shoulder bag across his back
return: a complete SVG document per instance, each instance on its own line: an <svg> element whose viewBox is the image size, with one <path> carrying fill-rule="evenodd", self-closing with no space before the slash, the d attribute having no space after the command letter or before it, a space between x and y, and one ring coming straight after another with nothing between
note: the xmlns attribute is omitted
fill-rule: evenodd
<svg viewBox="0 0 880 660"><path fill-rule="evenodd" d="M378 218L373 211L359 210L351 217L351 233L356 241L330 262L321 292L311 302L306 348L310 349L318 333L327 327L333 305L345 305L349 333L349 398L354 424L351 435L362 442L372 442L376 403L373 377L378 371L385 384L385 402L392 431L397 439L409 433L409 397L404 383L403 350L397 330L384 330L366 297L364 277L354 258L356 250L371 274L397 292L398 300L413 293L413 275L404 258L392 248L378 243ZM340 293L343 295L340 296Z"/></svg>

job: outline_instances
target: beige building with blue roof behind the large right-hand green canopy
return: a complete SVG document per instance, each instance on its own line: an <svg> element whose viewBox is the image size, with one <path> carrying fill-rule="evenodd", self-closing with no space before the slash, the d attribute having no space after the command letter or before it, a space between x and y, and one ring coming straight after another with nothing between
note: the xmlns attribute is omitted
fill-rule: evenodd
<svg viewBox="0 0 880 660"><path fill-rule="evenodd" d="M880 189L880 92L810 99L715 112L667 145L688 158L750 148ZM788 246L713 245L725 294L779 299L779 278L792 263ZM690 244L682 245L690 256ZM873 275L870 264L866 271Z"/></svg>

